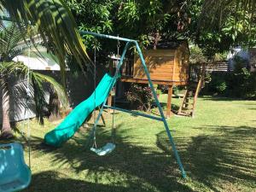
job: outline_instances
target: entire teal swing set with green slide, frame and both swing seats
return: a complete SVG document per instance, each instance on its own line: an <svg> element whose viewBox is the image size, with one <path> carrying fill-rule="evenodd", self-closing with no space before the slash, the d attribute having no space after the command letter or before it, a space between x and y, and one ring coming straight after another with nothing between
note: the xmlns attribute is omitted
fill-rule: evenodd
<svg viewBox="0 0 256 192"><path fill-rule="evenodd" d="M67 115L67 118L64 119L61 122L61 125L57 126L55 130L50 131L47 133L44 137L44 143L60 147L62 143L66 142L70 137L73 137L74 133L78 131L79 127L84 123L84 120L88 117L88 115L95 111L97 107L100 107L99 113L96 116L96 113L94 113L94 125L92 128L92 131L90 132L90 139L93 138L93 144L90 150L98 155L105 155L113 152L114 148L116 147L113 143L107 143L102 148L97 148L96 146L96 128L99 123L99 120L102 117L103 109L109 108L113 109L113 115L114 110L125 112L125 113L131 113L136 116L143 116L148 119L154 119L163 122L166 134L169 138L169 142L172 146L173 153L175 155L175 158L177 160L177 164L179 166L180 172L182 173L182 177L186 177L186 173L183 169L183 164L180 160L180 157L177 153L177 148L175 146L175 143L172 138L171 131L169 129L169 126L166 122L165 115L163 113L162 108L160 107L160 102L157 98L156 92L154 90L154 86L152 83L152 80L150 79L150 75L148 73L148 68L146 66L145 60L143 58L142 50L139 47L139 44L136 40L129 39L129 38L119 38L115 36L105 35L105 34L99 34L95 32L85 32L80 31L81 35L91 35L96 38L108 38L112 40L117 40L118 42L125 42L125 49L122 52L122 55L120 56L119 62L116 66L116 70L111 76L110 74L105 74L105 76L102 78L101 82L97 85L95 83L95 91L94 93L84 102L80 103L79 106L73 109L73 111ZM153 92L154 100L156 102L157 108L160 111L160 117L155 117L150 114L146 113L140 113L135 111L126 110L123 108L116 108L115 107L115 96L114 96L114 103L113 107L108 106L106 103L108 101L108 95L113 90L113 87L116 85L117 79L119 79L120 75L120 69L123 65L123 61L125 59L125 54L127 52L127 49L131 47L131 45L135 46L137 49L137 53L142 61L143 70L147 75L148 78L148 84L150 86L150 89ZM118 49L119 52L119 49ZM95 51L95 64L96 64L96 51ZM96 82L96 65L94 65L94 80ZM29 79L28 79L29 80ZM116 89L115 89L116 90ZM83 114L83 118L79 117ZM73 119L76 119L76 121L73 121ZM114 118L112 119L112 123L114 123ZM65 126L64 126L65 125ZM29 126L29 123L28 123ZM112 128L114 125L112 125ZM112 139L113 140L113 139ZM29 149L30 149L30 143L28 142ZM29 162L30 162L30 150L29 150ZM23 174L24 173L24 174ZM20 146L20 144L17 143L10 143L8 145L0 145L0 192L3 191L17 191L20 189L25 189L31 181L31 171L26 166L24 156L23 156L23 149Z"/></svg>

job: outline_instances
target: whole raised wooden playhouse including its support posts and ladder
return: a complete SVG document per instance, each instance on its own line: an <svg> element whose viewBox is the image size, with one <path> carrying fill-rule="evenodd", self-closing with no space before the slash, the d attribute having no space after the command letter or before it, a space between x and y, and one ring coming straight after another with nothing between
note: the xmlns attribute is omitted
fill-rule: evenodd
<svg viewBox="0 0 256 192"><path fill-rule="evenodd" d="M143 56L153 84L167 85L168 87L166 117L170 117L173 86L179 85L189 87L190 67L188 41L177 40L175 42L157 44L156 49L145 49L143 51ZM118 61L115 61L114 63L117 64L117 62ZM112 71L113 67L110 68L110 71ZM131 60L125 60L122 68L121 82L148 84L146 73L144 72L142 63L137 55ZM119 91L120 89L117 91L118 95ZM194 99L195 97L196 96L194 96ZM183 102L185 101L187 100L183 99ZM111 97L109 97L108 103L111 103Z"/></svg>

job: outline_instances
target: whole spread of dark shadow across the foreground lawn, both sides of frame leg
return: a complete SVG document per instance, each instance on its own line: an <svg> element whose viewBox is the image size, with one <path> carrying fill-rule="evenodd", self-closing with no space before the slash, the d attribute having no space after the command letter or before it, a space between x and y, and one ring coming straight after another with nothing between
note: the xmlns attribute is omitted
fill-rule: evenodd
<svg viewBox="0 0 256 192"><path fill-rule="evenodd" d="M116 128L117 148L107 156L96 156L84 146L88 135L84 128L61 148L49 148L42 144L42 138L32 137L33 153L51 154L52 160L47 162L51 170L33 174L26 191L194 191L180 179L166 131L156 136L161 149L157 151L142 146L140 141L131 143L133 137L121 126ZM221 191L224 183L255 184L256 128L206 125L191 129L211 129L213 134L175 138L190 180L212 191ZM111 141L109 130L99 127L97 141L98 146ZM51 168L63 169L67 165L72 172L83 172L83 177L92 182L73 179ZM108 184L101 182L102 177Z"/></svg>

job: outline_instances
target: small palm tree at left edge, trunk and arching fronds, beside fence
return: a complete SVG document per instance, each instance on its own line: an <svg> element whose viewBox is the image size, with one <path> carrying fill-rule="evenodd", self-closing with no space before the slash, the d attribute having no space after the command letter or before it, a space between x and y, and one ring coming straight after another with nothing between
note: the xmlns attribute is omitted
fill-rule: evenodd
<svg viewBox="0 0 256 192"><path fill-rule="evenodd" d="M16 55L20 55L27 46L23 39L26 37L27 29L25 26L18 28L15 23L3 24L0 23L0 83L3 91L2 111L3 111L3 126L2 137L12 137L12 129L9 123L9 79L12 77L19 77L19 79L26 79L28 74L28 67L22 62L12 61ZM23 41L23 42L22 42ZM21 44L20 44L21 43ZM44 98L44 89L42 84L48 82L52 84L55 92L61 99L61 104L67 104L67 96L61 84L58 84L55 79L49 76L30 71L29 73L33 99L36 105L38 119L43 123L43 108L47 104ZM26 86L20 84L20 91L26 91Z"/></svg>

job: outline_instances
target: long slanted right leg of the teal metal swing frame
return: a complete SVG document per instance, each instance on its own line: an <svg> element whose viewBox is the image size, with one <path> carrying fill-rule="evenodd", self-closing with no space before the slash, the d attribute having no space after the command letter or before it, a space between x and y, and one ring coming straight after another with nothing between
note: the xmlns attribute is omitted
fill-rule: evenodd
<svg viewBox="0 0 256 192"><path fill-rule="evenodd" d="M145 60L144 60L144 58L143 58L142 50L140 49L140 47L139 47L139 45L137 44L137 42L135 42L135 44L136 44L137 52L138 52L138 54L139 54L139 56L140 56L140 59L141 59L141 61L142 61L142 63L143 63L143 68L144 68L144 71L145 71L145 73L146 73L146 75L147 75L149 86L150 86L150 88L151 88L151 90L152 90L152 92L153 92L154 100L155 100L155 102L156 102L157 107L159 108L162 121L164 122L164 125L165 125L165 128L166 128L166 133L167 133L167 136L169 137L169 141L170 141L170 143L171 143L171 145L172 145L172 150L173 150L173 152L174 152L174 154L175 154L175 158L176 158L176 160L177 160L177 164L178 164L178 166L179 166L180 171L182 172L183 178L185 178L185 177L186 177L186 172L185 172L184 169L183 169L183 164L182 164L182 162L181 162L181 160L180 160L180 158L179 158L179 155L178 155L178 153L177 153L177 148L176 148L176 146L175 146L175 143L173 142L173 138L172 138L171 131L170 131L170 129L169 129L169 127L168 127L168 124L167 124L167 122L166 122L166 118L165 118L165 115L164 115L164 113L163 113L163 110L162 110L162 108L160 107L160 102L158 101L158 98L157 98L157 96L156 96L153 83L152 83L152 81L151 81L151 79L150 79L150 75L149 75L149 73L148 73L148 68L147 68L146 63L145 63Z"/></svg>

